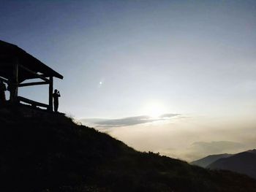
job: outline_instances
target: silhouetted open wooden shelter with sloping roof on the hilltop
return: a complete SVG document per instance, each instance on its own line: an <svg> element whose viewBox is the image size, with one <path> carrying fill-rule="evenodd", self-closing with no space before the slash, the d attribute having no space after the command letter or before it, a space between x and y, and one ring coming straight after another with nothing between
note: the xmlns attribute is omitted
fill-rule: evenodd
<svg viewBox="0 0 256 192"><path fill-rule="evenodd" d="M45 107L53 110L53 77L63 79L63 76L37 58L34 58L17 45L0 40L0 80L6 82L10 91L12 104L20 101L32 106ZM24 82L25 80L38 79L37 82ZM18 96L18 88L31 85L49 85L49 103L42 104L31 99Z"/></svg>

